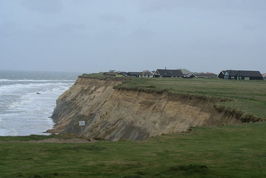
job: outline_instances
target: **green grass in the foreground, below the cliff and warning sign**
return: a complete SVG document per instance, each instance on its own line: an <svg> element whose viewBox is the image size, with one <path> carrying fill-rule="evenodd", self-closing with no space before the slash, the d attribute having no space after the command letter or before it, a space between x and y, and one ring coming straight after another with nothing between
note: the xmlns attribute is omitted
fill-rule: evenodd
<svg viewBox="0 0 266 178"><path fill-rule="evenodd" d="M265 130L260 122L86 144L0 137L0 177L265 177Z"/></svg>

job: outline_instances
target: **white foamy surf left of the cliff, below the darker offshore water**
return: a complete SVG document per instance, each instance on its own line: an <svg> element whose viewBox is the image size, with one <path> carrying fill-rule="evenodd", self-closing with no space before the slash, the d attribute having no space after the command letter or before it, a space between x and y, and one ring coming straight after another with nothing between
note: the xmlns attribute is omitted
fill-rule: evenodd
<svg viewBox="0 0 266 178"><path fill-rule="evenodd" d="M0 136L40 135L53 127L53 120L49 117L56 99L74 82L41 81L46 82L34 83L30 80L25 84L0 85L0 103L5 106L0 108Z"/></svg>

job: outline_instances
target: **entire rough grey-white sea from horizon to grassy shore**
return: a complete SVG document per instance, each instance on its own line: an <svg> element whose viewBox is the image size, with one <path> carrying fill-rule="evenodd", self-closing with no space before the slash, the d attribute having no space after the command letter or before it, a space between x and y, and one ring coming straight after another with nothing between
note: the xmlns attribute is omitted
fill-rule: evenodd
<svg viewBox="0 0 266 178"><path fill-rule="evenodd" d="M0 70L0 136L48 135L56 99L78 75Z"/></svg>

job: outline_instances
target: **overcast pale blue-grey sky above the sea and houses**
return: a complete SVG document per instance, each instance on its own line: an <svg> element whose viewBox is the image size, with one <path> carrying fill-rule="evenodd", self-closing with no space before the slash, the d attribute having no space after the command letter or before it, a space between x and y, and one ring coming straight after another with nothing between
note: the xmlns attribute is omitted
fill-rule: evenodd
<svg viewBox="0 0 266 178"><path fill-rule="evenodd" d="M265 0L0 0L0 69L266 72Z"/></svg>

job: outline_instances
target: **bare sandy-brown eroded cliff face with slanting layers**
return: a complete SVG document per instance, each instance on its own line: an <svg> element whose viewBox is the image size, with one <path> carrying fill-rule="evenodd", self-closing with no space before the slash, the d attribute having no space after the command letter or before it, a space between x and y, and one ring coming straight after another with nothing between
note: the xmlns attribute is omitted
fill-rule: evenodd
<svg viewBox="0 0 266 178"><path fill-rule="evenodd" d="M114 90L119 80L79 77L57 100L49 132L81 133L106 140L133 139L187 131L193 126L241 123L218 112L214 101L163 93Z"/></svg>

